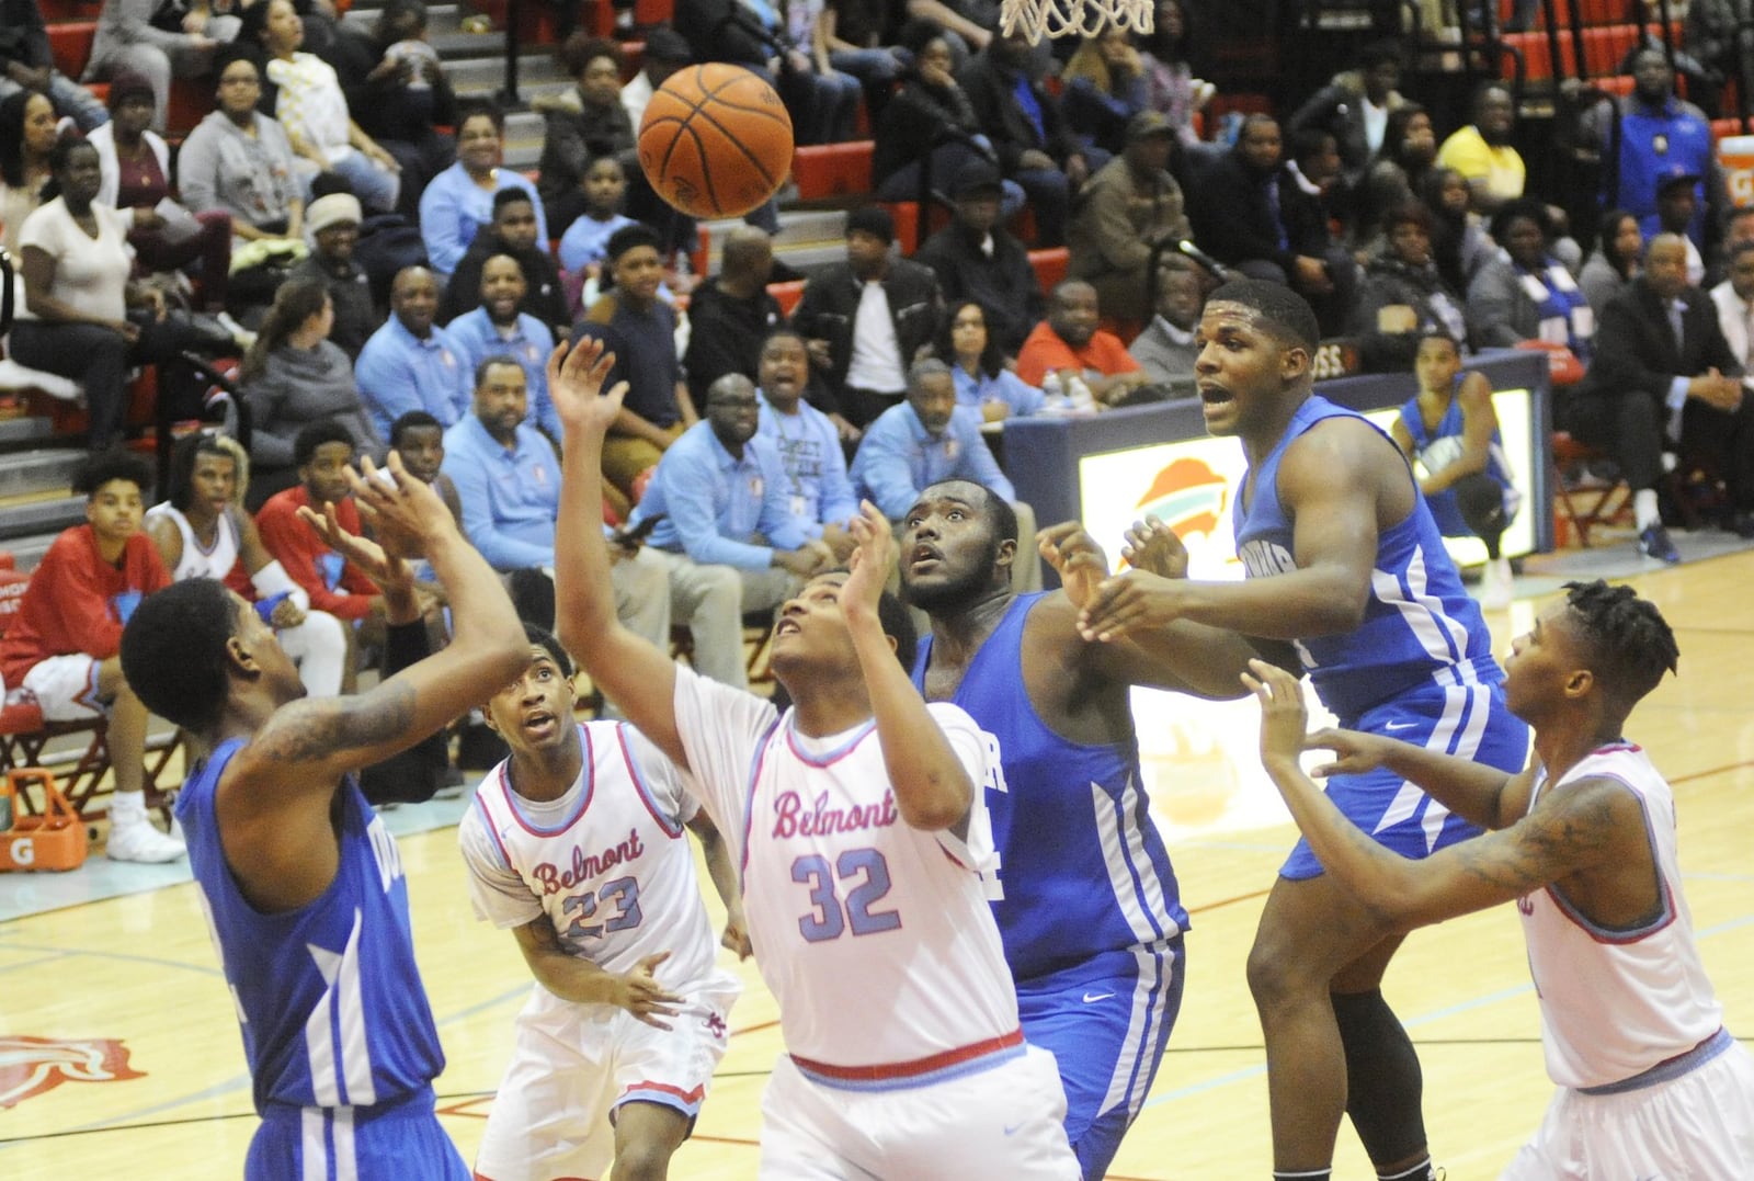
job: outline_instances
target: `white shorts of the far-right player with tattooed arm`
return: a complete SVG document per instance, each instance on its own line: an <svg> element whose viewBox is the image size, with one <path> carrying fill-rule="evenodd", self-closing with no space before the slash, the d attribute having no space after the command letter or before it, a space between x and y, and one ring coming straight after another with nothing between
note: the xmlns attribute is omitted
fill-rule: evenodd
<svg viewBox="0 0 1754 1181"><path fill-rule="evenodd" d="M1740 1042L1677 1079L1584 1095L1561 1090L1501 1181L1728 1181L1754 1162L1754 1056Z"/></svg>

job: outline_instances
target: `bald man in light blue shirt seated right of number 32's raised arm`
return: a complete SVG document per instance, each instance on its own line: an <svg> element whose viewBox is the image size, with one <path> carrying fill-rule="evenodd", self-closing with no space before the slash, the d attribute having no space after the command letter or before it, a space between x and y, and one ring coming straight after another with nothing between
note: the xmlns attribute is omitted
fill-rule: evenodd
<svg viewBox="0 0 1754 1181"><path fill-rule="evenodd" d="M744 583L744 611L768 611L831 562L786 504L786 469L756 437L754 383L726 374L707 390L707 418L677 439L630 525L661 516L651 544L696 565L724 565Z"/></svg>

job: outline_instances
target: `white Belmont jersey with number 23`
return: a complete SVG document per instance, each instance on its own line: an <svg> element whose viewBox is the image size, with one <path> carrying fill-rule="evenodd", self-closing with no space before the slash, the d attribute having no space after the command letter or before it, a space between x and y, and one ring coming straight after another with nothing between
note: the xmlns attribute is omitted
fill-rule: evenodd
<svg viewBox="0 0 1754 1181"><path fill-rule="evenodd" d="M477 914L498 927L547 914L561 942L605 972L668 951L658 967L665 986L735 995L735 977L714 965L717 935L684 834L696 809L682 772L623 723L582 723L579 741L584 769L553 804L517 797L509 760L475 790L458 842Z"/></svg>

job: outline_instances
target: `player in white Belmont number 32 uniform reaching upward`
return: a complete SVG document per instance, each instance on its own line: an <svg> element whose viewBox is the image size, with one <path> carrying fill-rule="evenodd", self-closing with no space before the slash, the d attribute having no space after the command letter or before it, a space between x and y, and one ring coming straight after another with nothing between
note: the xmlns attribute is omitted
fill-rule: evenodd
<svg viewBox="0 0 1754 1181"><path fill-rule="evenodd" d="M705 681L616 621L600 512L612 358L556 349L565 430L554 562L561 641L698 788L742 865L749 937L786 1051L763 1099L761 1177L1073 1181L1054 1056L1024 1042L988 907L996 776L979 726L909 681L884 593L889 523L863 505L851 574L781 607L774 672L795 705Z"/></svg>

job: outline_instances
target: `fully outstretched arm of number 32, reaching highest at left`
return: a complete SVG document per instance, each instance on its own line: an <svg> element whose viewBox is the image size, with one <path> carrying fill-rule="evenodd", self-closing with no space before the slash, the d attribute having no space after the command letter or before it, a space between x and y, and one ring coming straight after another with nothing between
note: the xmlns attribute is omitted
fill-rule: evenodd
<svg viewBox="0 0 1754 1181"><path fill-rule="evenodd" d="M603 540L603 435L621 412L626 383L600 393L616 361L602 340L561 344L549 356L549 397L560 414L560 519L554 523L554 623L560 642L628 721L670 762L688 769L675 730L670 655L621 626Z"/></svg>

